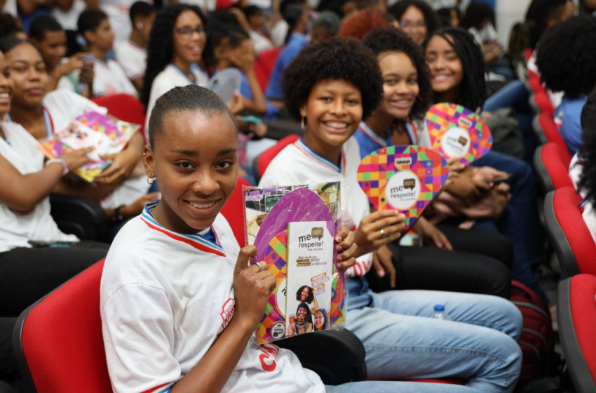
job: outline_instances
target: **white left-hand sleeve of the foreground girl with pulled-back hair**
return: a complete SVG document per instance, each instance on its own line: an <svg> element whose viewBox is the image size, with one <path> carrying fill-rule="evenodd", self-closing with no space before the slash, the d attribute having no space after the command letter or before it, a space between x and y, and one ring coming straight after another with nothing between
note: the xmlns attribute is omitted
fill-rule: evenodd
<svg viewBox="0 0 596 393"><path fill-rule="evenodd" d="M162 288L121 286L104 302L101 315L114 392L161 392L180 379L180 364L172 355L174 317Z"/></svg>

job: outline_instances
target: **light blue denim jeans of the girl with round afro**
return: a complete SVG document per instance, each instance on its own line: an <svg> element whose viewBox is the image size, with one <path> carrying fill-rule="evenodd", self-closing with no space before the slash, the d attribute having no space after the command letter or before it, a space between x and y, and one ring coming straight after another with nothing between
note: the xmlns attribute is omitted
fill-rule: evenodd
<svg viewBox="0 0 596 393"><path fill-rule="evenodd" d="M435 305L445 305L452 321L429 319ZM522 314L496 296L374 293L365 278L355 277L349 283L346 328L365 345L371 380L459 378L480 392L496 393L512 392L520 376Z"/></svg>

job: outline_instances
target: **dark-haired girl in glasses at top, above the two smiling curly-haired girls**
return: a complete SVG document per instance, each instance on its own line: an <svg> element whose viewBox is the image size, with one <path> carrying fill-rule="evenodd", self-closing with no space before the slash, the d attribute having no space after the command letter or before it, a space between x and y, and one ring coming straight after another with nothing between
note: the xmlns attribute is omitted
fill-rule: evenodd
<svg viewBox="0 0 596 393"><path fill-rule="evenodd" d="M398 20L400 27L416 45L441 26L437 13L422 0L402 0L393 4L388 13Z"/></svg>

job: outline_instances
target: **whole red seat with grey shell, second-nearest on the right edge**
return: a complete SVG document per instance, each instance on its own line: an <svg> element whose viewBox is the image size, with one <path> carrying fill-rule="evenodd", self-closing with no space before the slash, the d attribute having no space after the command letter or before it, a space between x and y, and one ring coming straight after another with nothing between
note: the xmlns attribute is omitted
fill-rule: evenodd
<svg viewBox="0 0 596 393"><path fill-rule="evenodd" d="M546 231L565 277L596 276L596 244L581 217L581 200L570 187L555 189L544 199Z"/></svg>

